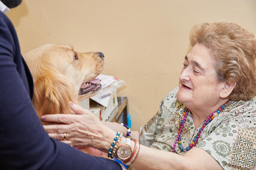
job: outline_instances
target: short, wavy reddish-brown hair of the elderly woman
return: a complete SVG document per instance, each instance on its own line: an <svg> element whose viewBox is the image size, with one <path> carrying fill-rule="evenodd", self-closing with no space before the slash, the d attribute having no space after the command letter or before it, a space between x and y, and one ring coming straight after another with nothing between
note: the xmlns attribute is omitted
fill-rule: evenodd
<svg viewBox="0 0 256 170"><path fill-rule="evenodd" d="M210 49L219 82L234 84L230 100L249 100L256 96L256 38L235 23L213 22L195 25L189 35L190 46Z"/></svg>

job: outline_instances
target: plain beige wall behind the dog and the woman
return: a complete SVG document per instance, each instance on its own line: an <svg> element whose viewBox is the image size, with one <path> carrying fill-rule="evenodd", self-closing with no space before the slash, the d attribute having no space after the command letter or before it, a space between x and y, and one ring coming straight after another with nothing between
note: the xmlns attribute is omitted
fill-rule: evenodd
<svg viewBox="0 0 256 170"><path fill-rule="evenodd" d="M227 21L256 34L255 7L255 0L24 0L7 15L22 54L44 44L104 53L104 72L127 82L118 95L128 97L137 130L178 86L191 27Z"/></svg>

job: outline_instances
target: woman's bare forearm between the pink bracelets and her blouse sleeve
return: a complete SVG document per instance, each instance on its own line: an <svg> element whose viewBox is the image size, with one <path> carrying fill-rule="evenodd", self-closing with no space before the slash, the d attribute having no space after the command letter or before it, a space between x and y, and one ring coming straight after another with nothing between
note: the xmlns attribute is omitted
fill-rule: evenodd
<svg viewBox="0 0 256 170"><path fill-rule="evenodd" d="M220 164L205 150L194 147L183 156L140 145L135 161L131 164L135 169L146 170L223 170Z"/></svg>

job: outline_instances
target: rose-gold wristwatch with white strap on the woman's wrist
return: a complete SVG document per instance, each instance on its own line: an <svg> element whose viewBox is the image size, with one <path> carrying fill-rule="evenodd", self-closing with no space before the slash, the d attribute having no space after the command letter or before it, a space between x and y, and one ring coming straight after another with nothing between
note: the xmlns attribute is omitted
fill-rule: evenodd
<svg viewBox="0 0 256 170"><path fill-rule="evenodd" d="M125 139L126 139L125 145L120 146L116 151L118 160L126 160L130 158L132 155L132 149L131 149L132 142L129 138L125 138Z"/></svg>

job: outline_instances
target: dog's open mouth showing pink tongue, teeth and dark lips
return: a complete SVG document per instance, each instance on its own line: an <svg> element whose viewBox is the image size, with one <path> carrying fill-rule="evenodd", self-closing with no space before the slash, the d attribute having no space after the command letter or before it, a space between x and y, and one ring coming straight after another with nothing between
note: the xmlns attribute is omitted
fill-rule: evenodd
<svg viewBox="0 0 256 170"><path fill-rule="evenodd" d="M79 95L84 95L89 93L90 91L98 91L101 89L101 84L100 84L100 79L94 79L92 81L89 82L84 82L79 90Z"/></svg>

